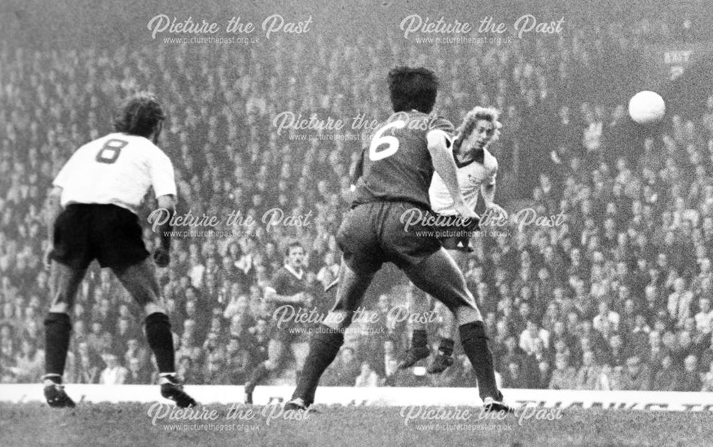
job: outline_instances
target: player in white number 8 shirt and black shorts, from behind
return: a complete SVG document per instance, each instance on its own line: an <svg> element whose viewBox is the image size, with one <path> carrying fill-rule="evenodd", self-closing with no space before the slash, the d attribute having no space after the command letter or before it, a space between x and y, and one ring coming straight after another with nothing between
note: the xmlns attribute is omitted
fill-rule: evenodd
<svg viewBox="0 0 713 447"><path fill-rule="evenodd" d="M45 319L44 394L54 407L73 407L62 386L69 347L69 313L87 267L110 268L147 315L145 332L158 364L161 395L181 407L196 402L175 376L170 322L155 277L155 262L170 262L170 220L150 259L135 211L153 187L158 206L173 213L173 165L156 146L165 115L153 95L128 99L115 133L91 141L71 156L48 197L48 247L52 304Z"/></svg>

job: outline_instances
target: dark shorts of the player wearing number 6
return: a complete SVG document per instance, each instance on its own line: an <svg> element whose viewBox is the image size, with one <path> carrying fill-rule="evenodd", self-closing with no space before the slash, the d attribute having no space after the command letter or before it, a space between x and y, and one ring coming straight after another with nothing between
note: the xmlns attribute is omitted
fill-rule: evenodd
<svg viewBox="0 0 713 447"><path fill-rule="evenodd" d="M384 262L404 269L441 249L431 228L419 222L406 227L402 216L426 213L408 202L371 202L356 205L337 232L344 262L357 272L376 272Z"/></svg>

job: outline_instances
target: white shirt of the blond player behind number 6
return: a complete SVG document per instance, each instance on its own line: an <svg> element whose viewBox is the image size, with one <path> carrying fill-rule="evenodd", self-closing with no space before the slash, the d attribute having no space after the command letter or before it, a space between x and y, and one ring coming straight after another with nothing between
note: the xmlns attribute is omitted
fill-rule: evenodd
<svg viewBox="0 0 713 447"><path fill-rule="evenodd" d="M481 185L493 185L498 173L498 160L487 149L483 149L483 152L483 163L471 161L471 163L459 166L456 160L458 187L461 188L463 200L471 210L475 210L478 205ZM431 179L429 199L431 200L431 210L434 212L446 216L458 214L453 206L451 192L448 192L446 183L443 183L443 179L436 172Z"/></svg>

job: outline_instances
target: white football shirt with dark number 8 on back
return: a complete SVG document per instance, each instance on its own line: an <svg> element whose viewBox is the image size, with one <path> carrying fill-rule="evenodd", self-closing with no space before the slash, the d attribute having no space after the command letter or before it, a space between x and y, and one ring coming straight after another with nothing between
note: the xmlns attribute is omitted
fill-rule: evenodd
<svg viewBox="0 0 713 447"><path fill-rule="evenodd" d="M156 197L176 194L168 155L148 138L110 133L76 150L54 179L61 205L113 204L136 212L150 187Z"/></svg>

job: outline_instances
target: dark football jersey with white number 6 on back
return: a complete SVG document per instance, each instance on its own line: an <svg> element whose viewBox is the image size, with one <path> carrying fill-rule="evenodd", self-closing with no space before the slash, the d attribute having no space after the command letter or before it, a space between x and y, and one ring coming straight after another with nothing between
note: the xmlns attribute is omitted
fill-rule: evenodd
<svg viewBox="0 0 713 447"><path fill-rule="evenodd" d="M417 111L398 112L379 125L361 158L354 205L369 202L411 202L430 209L429 186L434 164L426 134L440 129L453 133L453 124ZM354 173L354 178L359 173Z"/></svg>

